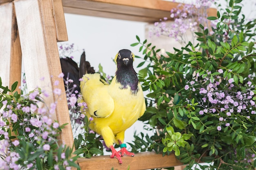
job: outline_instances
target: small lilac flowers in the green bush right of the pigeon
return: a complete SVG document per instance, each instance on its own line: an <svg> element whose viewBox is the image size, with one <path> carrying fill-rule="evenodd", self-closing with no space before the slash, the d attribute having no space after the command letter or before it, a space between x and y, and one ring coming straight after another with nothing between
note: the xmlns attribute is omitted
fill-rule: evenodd
<svg viewBox="0 0 256 170"><path fill-rule="evenodd" d="M209 75L210 72L202 76L196 74L194 81L187 82L184 87L185 90L194 92L200 99L199 115L215 116L219 120L216 125L218 131L239 120L249 121L250 116L256 113L253 99L255 87L252 82L247 80L247 83L235 85L233 78L223 77L222 73L223 70L219 69L218 75L213 78Z"/></svg>

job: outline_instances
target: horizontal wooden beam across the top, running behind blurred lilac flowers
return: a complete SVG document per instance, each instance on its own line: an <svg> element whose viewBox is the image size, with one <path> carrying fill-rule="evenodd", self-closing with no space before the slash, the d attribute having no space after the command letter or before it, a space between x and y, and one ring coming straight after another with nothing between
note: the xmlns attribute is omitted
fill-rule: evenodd
<svg viewBox="0 0 256 170"><path fill-rule="evenodd" d="M164 0L62 0L65 13L115 18L139 22L157 22L170 16L179 3ZM209 9L209 16L216 16Z"/></svg>

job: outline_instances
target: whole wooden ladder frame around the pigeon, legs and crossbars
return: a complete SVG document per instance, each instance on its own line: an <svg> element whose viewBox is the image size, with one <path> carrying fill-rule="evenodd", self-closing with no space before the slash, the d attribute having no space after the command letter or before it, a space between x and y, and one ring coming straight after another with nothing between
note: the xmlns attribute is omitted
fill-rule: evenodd
<svg viewBox="0 0 256 170"><path fill-rule="evenodd" d="M0 0L0 76L2 84L11 87L21 79L21 62L24 61L27 87L47 89L46 103L58 100L54 119L60 124L68 123L60 139L73 146L73 135L65 93L56 98L54 88L65 92L58 54L58 41L67 41L64 9L69 13L112 17L117 19L152 22L169 13L175 3L161 0ZM143 5L146 5L145 7ZM161 8L165 8L164 10ZM116 11L115 11L116 10ZM99 11L103 11L100 13ZM216 10L210 10L210 13ZM154 14L155 13L155 14ZM152 15L152 16L151 16ZM155 19L154 19L155 20ZM40 80L44 77L44 81ZM58 86L54 81L61 82ZM118 169L131 170L165 168L182 165L176 157L155 153L139 153L135 157L123 157L123 164L109 156L78 160L82 170ZM182 167L178 168L181 169Z"/></svg>

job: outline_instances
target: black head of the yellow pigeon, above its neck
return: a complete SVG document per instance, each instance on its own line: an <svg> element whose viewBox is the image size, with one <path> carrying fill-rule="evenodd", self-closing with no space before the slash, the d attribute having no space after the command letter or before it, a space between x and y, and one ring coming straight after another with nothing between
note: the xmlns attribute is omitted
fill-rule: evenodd
<svg viewBox="0 0 256 170"><path fill-rule="evenodd" d="M133 60L134 54L127 49L120 50L115 57L117 66L132 66Z"/></svg>

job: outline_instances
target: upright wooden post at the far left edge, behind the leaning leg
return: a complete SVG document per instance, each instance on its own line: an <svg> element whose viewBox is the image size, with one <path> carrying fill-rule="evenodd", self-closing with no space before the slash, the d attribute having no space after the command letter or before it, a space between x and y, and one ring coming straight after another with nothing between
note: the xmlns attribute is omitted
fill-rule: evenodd
<svg viewBox="0 0 256 170"><path fill-rule="evenodd" d="M12 2L0 5L0 77L9 86L21 80L21 49L15 10ZM20 89L16 89L18 92Z"/></svg>

